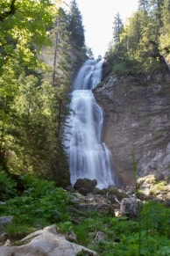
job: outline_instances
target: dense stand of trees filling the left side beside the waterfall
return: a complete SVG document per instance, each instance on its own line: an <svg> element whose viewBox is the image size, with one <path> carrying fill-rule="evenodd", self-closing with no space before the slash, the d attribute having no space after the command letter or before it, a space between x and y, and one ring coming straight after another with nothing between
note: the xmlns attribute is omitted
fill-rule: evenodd
<svg viewBox="0 0 170 256"><path fill-rule="evenodd" d="M66 186L63 124L70 77L86 48L76 3L66 13L55 2L1 1L0 166L56 183L60 173L60 185ZM41 60L45 51L51 66Z"/></svg>

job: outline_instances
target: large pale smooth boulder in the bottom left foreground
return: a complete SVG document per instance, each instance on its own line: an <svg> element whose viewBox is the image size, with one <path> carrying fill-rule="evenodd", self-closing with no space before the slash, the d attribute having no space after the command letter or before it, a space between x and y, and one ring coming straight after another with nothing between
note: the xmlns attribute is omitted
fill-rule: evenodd
<svg viewBox="0 0 170 256"><path fill-rule="evenodd" d="M32 237L34 237L34 233ZM85 252L87 255L97 255L96 252L89 250L88 248L76 245L66 240L66 238L57 233L54 226L47 227L44 230L40 230L40 234L37 233L30 242L30 236L26 237L24 241L28 240L28 244L20 246L1 246L1 256L66 256L77 255L77 253Z"/></svg>

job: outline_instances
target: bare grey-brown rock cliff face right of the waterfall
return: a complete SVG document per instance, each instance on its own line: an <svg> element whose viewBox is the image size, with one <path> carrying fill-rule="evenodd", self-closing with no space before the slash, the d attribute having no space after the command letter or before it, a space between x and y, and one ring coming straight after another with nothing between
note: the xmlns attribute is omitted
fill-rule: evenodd
<svg viewBox="0 0 170 256"><path fill-rule="evenodd" d="M105 112L103 141L122 184L133 183L133 156L138 177L169 177L170 75L113 76L94 94Z"/></svg>

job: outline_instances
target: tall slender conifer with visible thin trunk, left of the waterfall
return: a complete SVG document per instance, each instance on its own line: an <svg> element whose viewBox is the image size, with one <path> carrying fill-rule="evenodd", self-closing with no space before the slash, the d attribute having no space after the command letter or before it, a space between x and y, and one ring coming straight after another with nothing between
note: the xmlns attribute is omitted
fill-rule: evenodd
<svg viewBox="0 0 170 256"><path fill-rule="evenodd" d="M62 128L69 112L68 93L71 90L70 77L72 75L72 49L69 44L67 14L60 8L53 29L53 81L56 94L56 123L57 136L60 138Z"/></svg>

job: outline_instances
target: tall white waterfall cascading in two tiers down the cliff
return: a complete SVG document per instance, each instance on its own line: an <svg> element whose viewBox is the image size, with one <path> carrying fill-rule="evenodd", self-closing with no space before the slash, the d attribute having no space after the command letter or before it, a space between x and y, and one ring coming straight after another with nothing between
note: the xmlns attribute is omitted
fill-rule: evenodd
<svg viewBox="0 0 170 256"><path fill-rule="evenodd" d="M98 188L115 184L110 151L101 141L103 109L92 92L101 81L102 66L102 61L86 61L74 81L66 129L72 185L80 178L96 179Z"/></svg>

